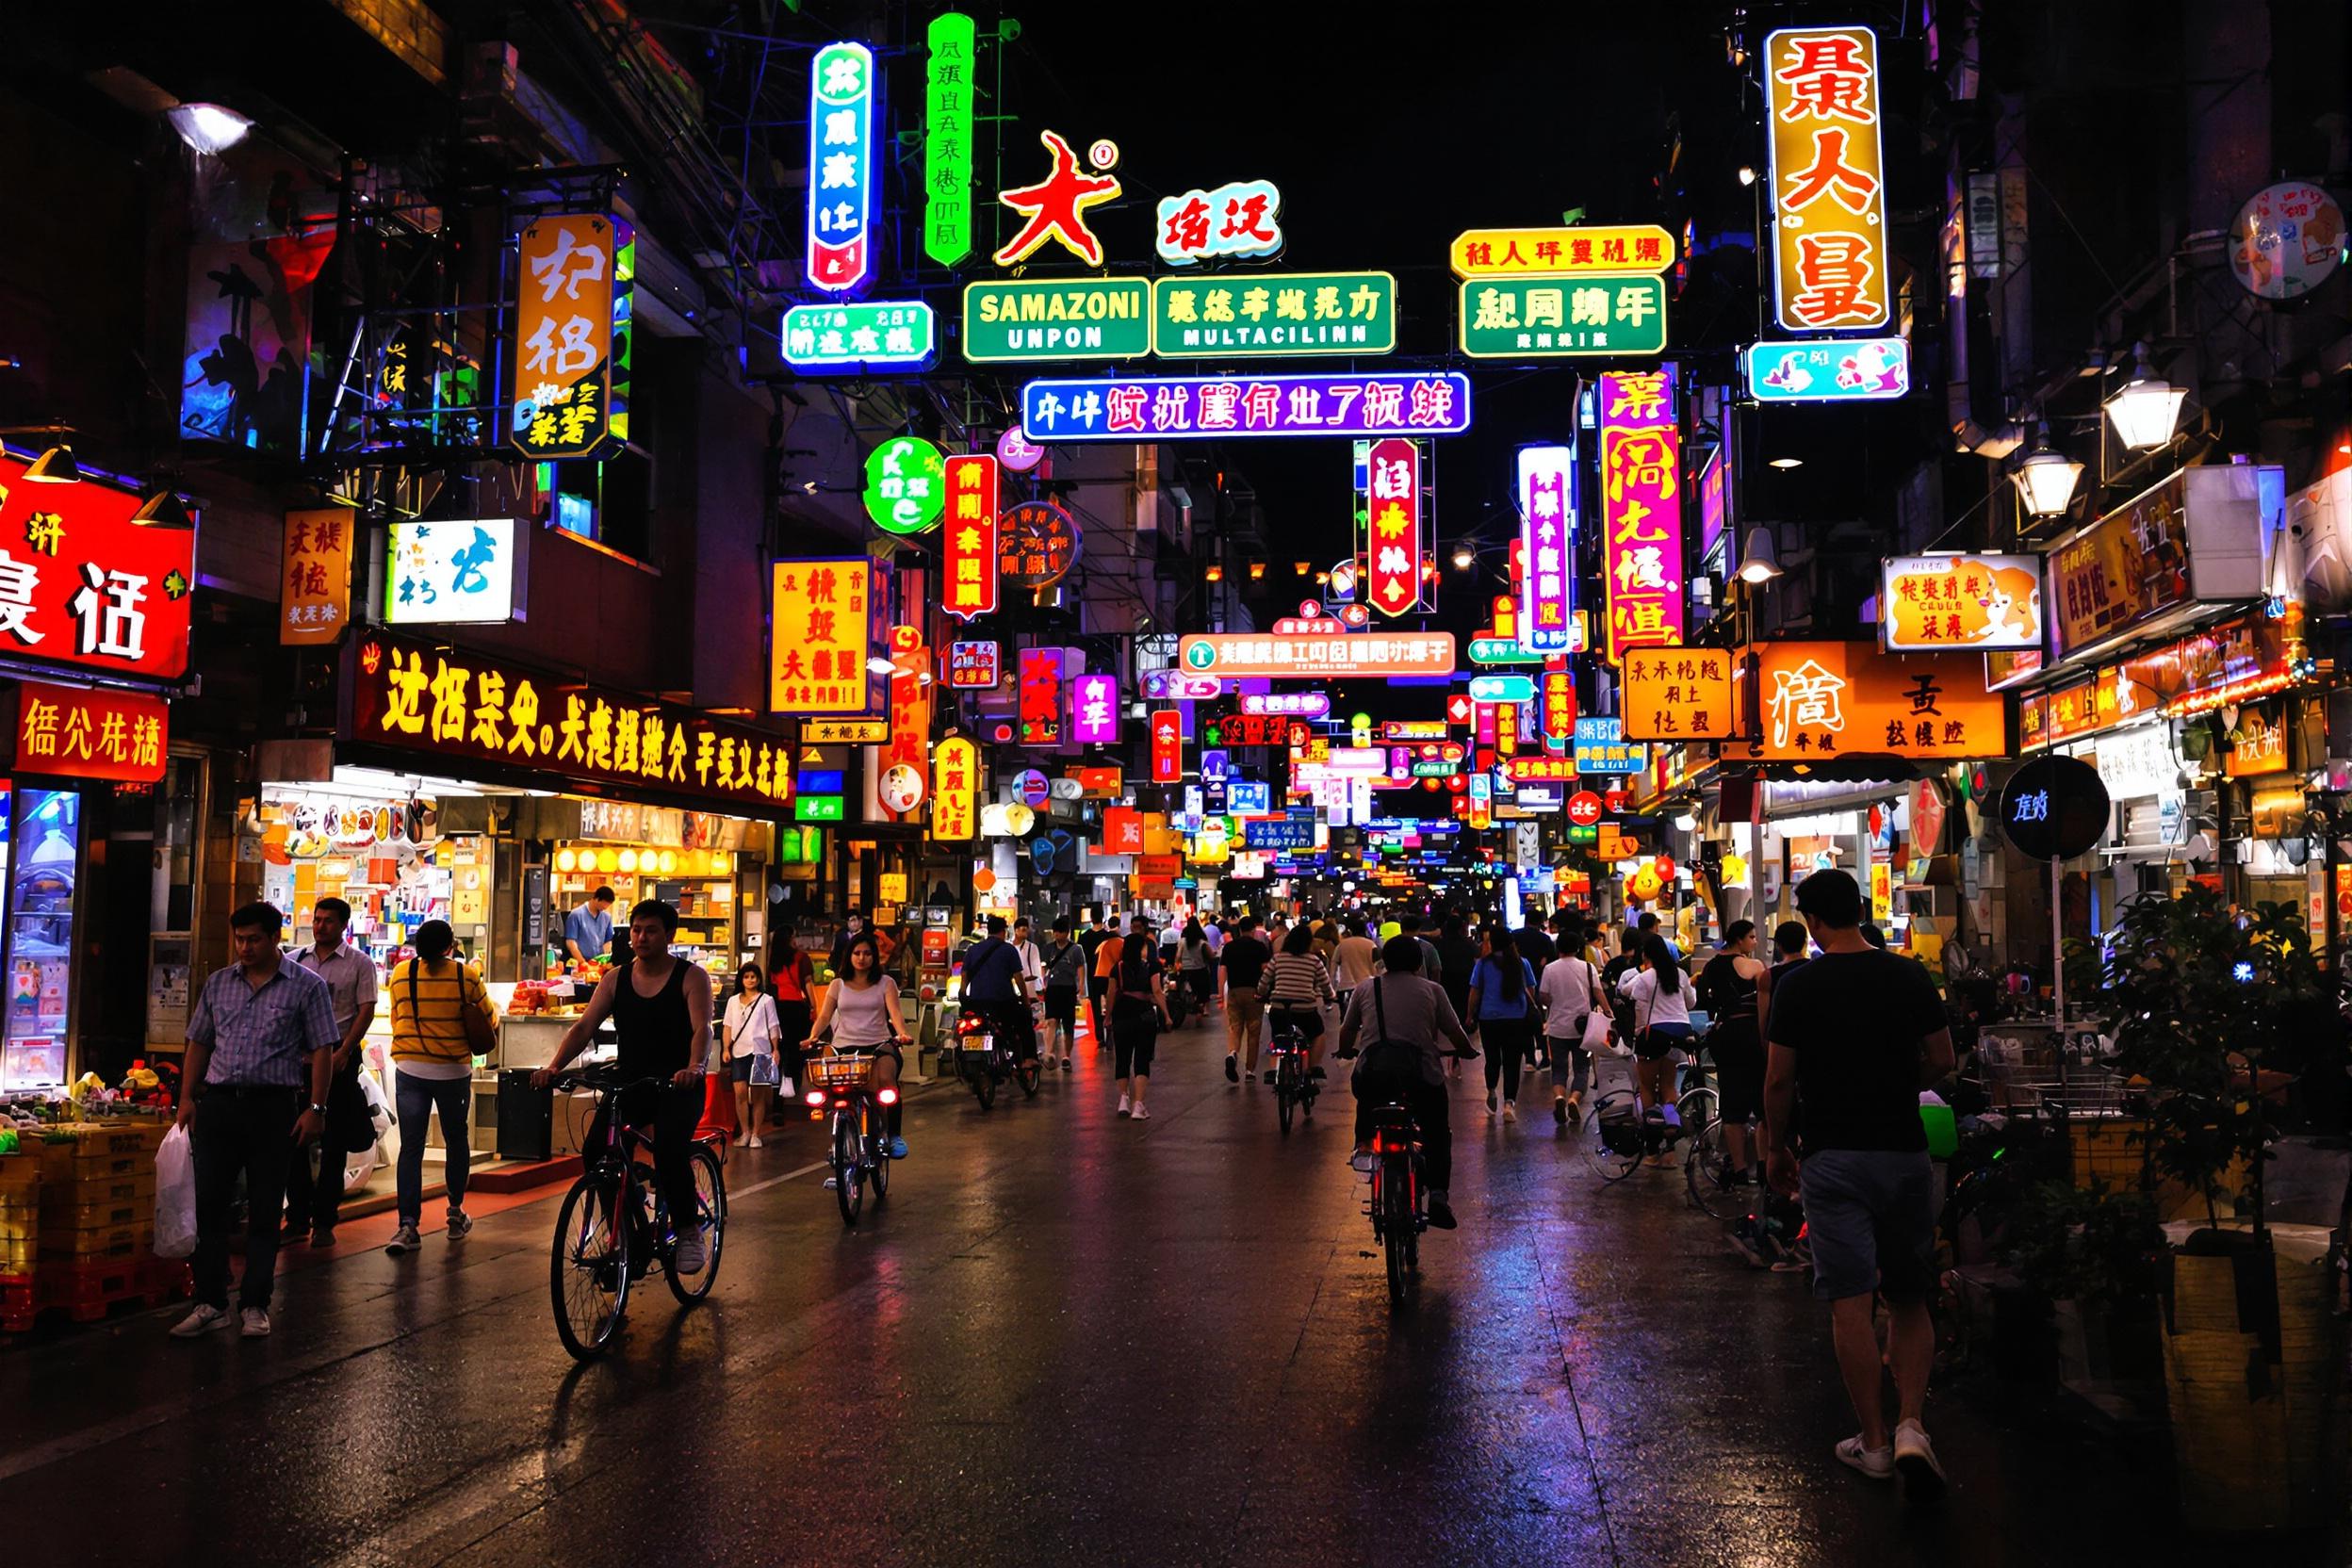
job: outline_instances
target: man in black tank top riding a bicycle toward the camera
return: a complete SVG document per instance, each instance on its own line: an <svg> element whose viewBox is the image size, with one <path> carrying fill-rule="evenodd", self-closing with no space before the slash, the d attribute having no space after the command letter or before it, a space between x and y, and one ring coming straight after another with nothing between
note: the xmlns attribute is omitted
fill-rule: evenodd
<svg viewBox="0 0 2352 1568"><path fill-rule="evenodd" d="M703 1063L710 1056L710 976L670 952L677 933L677 910L659 898L644 898L628 912L628 959L607 969L588 997L588 1011L564 1032L564 1041L546 1067L532 1074L532 1088L546 1088L595 1039L600 1023L612 1018L621 1039L614 1067L628 1093L597 1107L583 1150L600 1150L609 1138L607 1117L619 1107L626 1126L654 1128L654 1180L661 1201L677 1225L677 1272L699 1274L706 1260L703 1232L694 1222L694 1128L703 1119ZM659 1088L637 1086L661 1079Z"/></svg>

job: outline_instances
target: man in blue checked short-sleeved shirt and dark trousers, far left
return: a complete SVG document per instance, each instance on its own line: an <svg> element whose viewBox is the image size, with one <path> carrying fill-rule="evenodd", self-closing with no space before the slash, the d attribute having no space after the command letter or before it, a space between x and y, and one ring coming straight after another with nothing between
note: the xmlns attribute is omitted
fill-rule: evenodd
<svg viewBox="0 0 2352 1568"><path fill-rule="evenodd" d="M280 931L285 914L273 905L249 903L230 914L238 961L205 978L188 1016L179 1126L195 1145L195 1307L172 1328L181 1340L228 1326L228 1215L238 1178L245 1178L238 1316L247 1340L268 1335L287 1150L327 1128L327 1086L343 1034L327 983L278 947Z"/></svg>

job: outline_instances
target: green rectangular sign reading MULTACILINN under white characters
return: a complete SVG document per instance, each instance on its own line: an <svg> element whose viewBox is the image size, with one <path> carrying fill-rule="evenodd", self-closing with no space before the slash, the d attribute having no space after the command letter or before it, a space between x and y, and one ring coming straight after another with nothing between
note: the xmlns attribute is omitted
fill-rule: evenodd
<svg viewBox="0 0 2352 1568"><path fill-rule="evenodd" d="M1388 273L1230 273L1152 284L1152 353L1385 355L1397 346L1397 280Z"/></svg>

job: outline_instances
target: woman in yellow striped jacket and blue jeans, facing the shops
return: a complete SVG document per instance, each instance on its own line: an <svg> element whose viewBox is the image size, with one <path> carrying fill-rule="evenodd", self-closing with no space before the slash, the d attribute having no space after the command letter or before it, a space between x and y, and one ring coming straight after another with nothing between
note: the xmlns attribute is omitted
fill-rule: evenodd
<svg viewBox="0 0 2352 1568"><path fill-rule="evenodd" d="M449 1185L449 1239L473 1229L466 1213L466 1143L473 1121L473 1041L468 1013L496 1023L482 976L452 957L456 933L445 919L416 926L416 957L393 966L393 1112L400 1117L400 1229L388 1253L416 1251L416 1225L426 1194L426 1124L442 1119L442 1171Z"/></svg>

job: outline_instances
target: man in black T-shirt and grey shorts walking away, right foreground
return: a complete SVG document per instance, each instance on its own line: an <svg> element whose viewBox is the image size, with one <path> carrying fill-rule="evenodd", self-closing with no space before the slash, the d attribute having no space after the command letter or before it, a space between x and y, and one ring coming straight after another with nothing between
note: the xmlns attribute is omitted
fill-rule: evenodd
<svg viewBox="0 0 2352 1568"><path fill-rule="evenodd" d="M1863 940L1853 877L1813 872L1797 886L1797 912L1820 957L1771 992L1766 1171L1785 1194L1802 1185L1813 1293L1830 1302L1837 1368L1863 1420L1837 1458L1875 1481L1900 1474L1910 1500L1924 1502L1940 1495L1943 1465L1919 1422L1936 1361L1926 1309L1936 1199L1919 1091L1952 1072L1952 1034L1926 969ZM1886 1363L1900 1399L1891 1439L1872 1295L1891 1319Z"/></svg>

